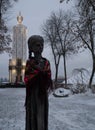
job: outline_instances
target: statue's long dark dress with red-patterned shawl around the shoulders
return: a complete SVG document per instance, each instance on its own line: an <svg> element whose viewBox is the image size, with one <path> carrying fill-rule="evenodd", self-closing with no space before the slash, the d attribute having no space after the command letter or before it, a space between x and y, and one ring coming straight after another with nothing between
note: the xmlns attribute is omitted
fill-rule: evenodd
<svg viewBox="0 0 95 130"><path fill-rule="evenodd" d="M26 130L48 130L48 91L52 80L49 61L43 61L43 71L36 67L34 58L26 63Z"/></svg>

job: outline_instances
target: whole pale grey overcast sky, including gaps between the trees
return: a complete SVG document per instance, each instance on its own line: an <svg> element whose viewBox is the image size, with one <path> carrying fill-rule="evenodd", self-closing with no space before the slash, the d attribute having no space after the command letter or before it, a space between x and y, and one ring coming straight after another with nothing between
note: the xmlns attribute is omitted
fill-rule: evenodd
<svg viewBox="0 0 95 130"><path fill-rule="evenodd" d="M11 9L11 20L8 22L9 27L12 33L12 27L17 24L17 15L19 11L23 16L23 24L27 26L28 34L27 38L34 34L41 34L41 25L43 22L50 16L52 11L58 11L59 9L63 9L68 11L68 9L73 8L74 3L71 1L69 4L59 3L59 0L19 0L18 3L14 5ZM49 49L44 49L43 55L50 59L51 67L53 70L53 60L51 53L48 53ZM84 57L84 58L82 58ZM85 58L86 57L86 58ZM84 64L84 59L86 59ZM89 60L90 59L90 60ZM8 60L9 56L7 54L0 55L0 77L8 77ZM75 61L75 62L74 62ZM91 57L88 52L80 55L80 57L73 58L69 60L68 65L68 73L71 73L70 66L72 65L72 69L77 66L89 67L91 65ZM63 65L60 66L60 75L63 75L62 72Z"/></svg>

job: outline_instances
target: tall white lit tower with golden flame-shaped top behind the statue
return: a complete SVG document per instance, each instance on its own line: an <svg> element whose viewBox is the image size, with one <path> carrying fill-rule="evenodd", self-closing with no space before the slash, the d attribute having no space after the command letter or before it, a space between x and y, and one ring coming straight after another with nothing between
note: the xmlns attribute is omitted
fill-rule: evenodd
<svg viewBox="0 0 95 130"><path fill-rule="evenodd" d="M18 24L13 27L12 59L9 59L9 81L11 83L23 82L25 72L27 27L22 24L22 21L23 17L19 13Z"/></svg>

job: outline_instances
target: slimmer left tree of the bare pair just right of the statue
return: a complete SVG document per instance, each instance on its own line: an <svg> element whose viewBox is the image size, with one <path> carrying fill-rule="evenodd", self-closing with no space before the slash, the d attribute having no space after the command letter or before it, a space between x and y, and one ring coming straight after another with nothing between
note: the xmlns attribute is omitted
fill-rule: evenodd
<svg viewBox="0 0 95 130"><path fill-rule="evenodd" d="M55 72L55 87L56 87L61 54L58 46L56 45L57 33L51 18L46 20L46 22L42 25L42 32L46 39L46 43L50 44L54 56L54 63L56 70Z"/></svg>

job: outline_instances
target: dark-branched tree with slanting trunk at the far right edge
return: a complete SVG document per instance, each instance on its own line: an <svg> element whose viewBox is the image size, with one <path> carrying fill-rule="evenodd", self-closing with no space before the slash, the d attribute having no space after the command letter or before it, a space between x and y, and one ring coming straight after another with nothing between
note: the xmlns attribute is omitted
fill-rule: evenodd
<svg viewBox="0 0 95 130"><path fill-rule="evenodd" d="M61 2L63 1L61 0ZM79 13L79 21L77 21L76 28L78 36L82 41L80 46L84 46L92 55L93 66L89 80L89 87L91 87L95 73L95 0L76 0L76 2Z"/></svg>

